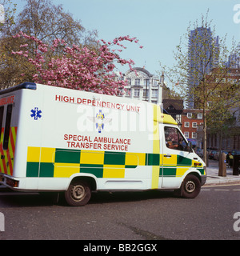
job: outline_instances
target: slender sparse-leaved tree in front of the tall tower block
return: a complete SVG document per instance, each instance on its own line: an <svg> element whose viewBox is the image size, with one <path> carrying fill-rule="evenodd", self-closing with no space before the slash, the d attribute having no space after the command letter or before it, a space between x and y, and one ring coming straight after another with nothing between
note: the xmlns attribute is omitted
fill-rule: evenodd
<svg viewBox="0 0 240 256"><path fill-rule="evenodd" d="M162 67L164 73L185 98L188 98L191 107L202 109L203 115L203 145L204 160L206 162L206 116L211 108L216 106L221 98L222 108L230 107L236 94L237 86L222 81L226 78L229 68L226 66L231 53L236 53L238 48L233 43L232 49L226 47L226 37L217 38L214 30L210 30L211 22L202 15L202 21L194 22L187 29L186 42L180 40L174 52L174 66L167 69ZM177 83L178 82L178 83ZM231 91L231 94L229 92ZM229 98L231 95L231 101Z"/></svg>

